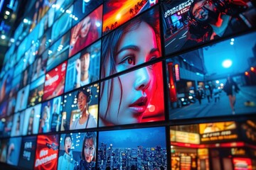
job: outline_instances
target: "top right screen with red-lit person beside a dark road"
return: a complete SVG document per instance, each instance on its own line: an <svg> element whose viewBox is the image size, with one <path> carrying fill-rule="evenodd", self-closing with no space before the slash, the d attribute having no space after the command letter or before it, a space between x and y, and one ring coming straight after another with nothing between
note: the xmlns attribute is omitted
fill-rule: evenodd
<svg viewBox="0 0 256 170"><path fill-rule="evenodd" d="M228 3L182 0L163 3L162 23L166 55L255 28L252 1ZM205 12L205 13L204 13ZM175 17L174 17L175 15Z"/></svg>

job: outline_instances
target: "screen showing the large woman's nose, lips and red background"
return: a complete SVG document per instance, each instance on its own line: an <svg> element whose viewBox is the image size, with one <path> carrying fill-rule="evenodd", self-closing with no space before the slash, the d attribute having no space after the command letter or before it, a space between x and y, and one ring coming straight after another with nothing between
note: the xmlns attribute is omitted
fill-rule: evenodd
<svg viewBox="0 0 256 170"><path fill-rule="evenodd" d="M157 62L100 84L99 125L164 120L162 64Z"/></svg>

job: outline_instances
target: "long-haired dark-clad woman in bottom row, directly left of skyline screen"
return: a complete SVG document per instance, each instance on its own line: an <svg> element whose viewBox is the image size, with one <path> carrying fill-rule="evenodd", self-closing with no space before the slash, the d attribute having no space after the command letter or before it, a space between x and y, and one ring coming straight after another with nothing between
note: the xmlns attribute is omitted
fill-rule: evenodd
<svg viewBox="0 0 256 170"><path fill-rule="evenodd" d="M86 132L82 142L81 159L75 162L74 170L95 169L96 161L96 134Z"/></svg>

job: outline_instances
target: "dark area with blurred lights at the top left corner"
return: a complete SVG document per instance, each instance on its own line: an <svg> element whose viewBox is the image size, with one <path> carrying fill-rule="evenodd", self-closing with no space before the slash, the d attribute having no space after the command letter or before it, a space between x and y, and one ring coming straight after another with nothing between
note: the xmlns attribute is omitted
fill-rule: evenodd
<svg viewBox="0 0 256 170"><path fill-rule="evenodd" d="M0 0L0 72L14 31L23 18L27 0Z"/></svg>

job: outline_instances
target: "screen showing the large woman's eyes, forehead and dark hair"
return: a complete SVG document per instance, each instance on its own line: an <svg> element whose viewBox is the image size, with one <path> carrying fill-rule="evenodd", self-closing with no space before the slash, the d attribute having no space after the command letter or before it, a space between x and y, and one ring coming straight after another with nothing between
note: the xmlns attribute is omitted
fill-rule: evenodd
<svg viewBox="0 0 256 170"><path fill-rule="evenodd" d="M102 40L101 78L161 57L159 11L152 8Z"/></svg>

